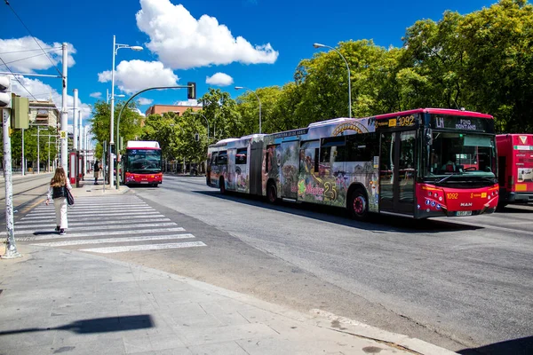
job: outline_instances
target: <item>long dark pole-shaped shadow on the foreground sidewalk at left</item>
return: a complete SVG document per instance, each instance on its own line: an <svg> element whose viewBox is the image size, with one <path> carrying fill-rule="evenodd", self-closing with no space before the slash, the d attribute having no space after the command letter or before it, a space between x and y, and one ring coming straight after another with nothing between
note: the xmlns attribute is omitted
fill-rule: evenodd
<svg viewBox="0 0 533 355"><path fill-rule="evenodd" d="M148 327L154 327L152 316L149 314L139 314L136 316L82 319L60 327L29 327L25 329L6 330L0 332L0 336L49 330L68 330L76 334L93 334L122 332L124 330L145 329Z"/></svg>

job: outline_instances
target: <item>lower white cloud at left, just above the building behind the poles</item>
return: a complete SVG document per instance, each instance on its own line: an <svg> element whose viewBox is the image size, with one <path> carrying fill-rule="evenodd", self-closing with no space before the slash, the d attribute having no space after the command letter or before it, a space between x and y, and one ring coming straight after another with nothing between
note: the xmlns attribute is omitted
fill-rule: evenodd
<svg viewBox="0 0 533 355"><path fill-rule="evenodd" d="M10 75L12 76L12 75ZM41 82L39 79L30 79L28 77L17 75L17 78L19 81L13 78L12 76L12 91L16 93L17 95L20 95L24 98L28 99L40 99L40 100L48 100L52 99L56 107L58 107L59 110L61 110L61 103L62 103L62 96L60 92L56 91L52 86L50 86L47 83ZM60 79L57 80L59 83L58 86L60 86ZM23 85L23 86L22 86ZM26 88L26 89L24 89ZM29 92L31 92L30 95ZM68 121L72 122L73 120L73 110L70 108L74 106L74 96L67 95L67 108L68 108ZM82 103L82 101L78 98L76 106L78 108L81 108L82 113L82 119L86 120L88 116L92 114L91 106ZM84 122L84 124L87 122Z"/></svg>

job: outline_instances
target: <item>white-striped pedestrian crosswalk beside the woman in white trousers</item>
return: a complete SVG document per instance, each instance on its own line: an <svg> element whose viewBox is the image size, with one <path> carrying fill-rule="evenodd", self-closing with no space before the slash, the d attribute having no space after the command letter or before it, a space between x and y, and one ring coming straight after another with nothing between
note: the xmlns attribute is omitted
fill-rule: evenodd
<svg viewBox="0 0 533 355"><path fill-rule="evenodd" d="M16 241L101 254L206 247L135 195L79 197L68 208L67 234L54 232L55 226L53 204L39 206L15 222Z"/></svg>

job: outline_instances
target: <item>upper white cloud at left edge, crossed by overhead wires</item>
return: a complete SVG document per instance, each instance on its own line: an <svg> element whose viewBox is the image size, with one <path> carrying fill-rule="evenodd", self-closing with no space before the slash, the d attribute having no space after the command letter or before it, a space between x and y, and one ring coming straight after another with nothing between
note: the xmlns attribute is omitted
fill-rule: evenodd
<svg viewBox="0 0 533 355"><path fill-rule="evenodd" d="M39 45L47 52L47 55L39 48ZM0 39L0 54L5 64L15 72L33 73L36 70L46 70L53 66L62 70L59 66L62 60L61 43L48 44L38 38L34 40L30 36ZM76 54L76 48L68 43L68 67L76 64L72 54ZM0 70L6 70L4 63L0 64Z"/></svg>

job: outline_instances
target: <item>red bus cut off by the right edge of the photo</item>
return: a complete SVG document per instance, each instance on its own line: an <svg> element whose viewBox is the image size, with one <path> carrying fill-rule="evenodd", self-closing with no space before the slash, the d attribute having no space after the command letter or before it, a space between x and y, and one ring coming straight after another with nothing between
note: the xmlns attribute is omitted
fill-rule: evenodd
<svg viewBox="0 0 533 355"><path fill-rule="evenodd" d="M533 134L496 136L499 207L533 202Z"/></svg>

